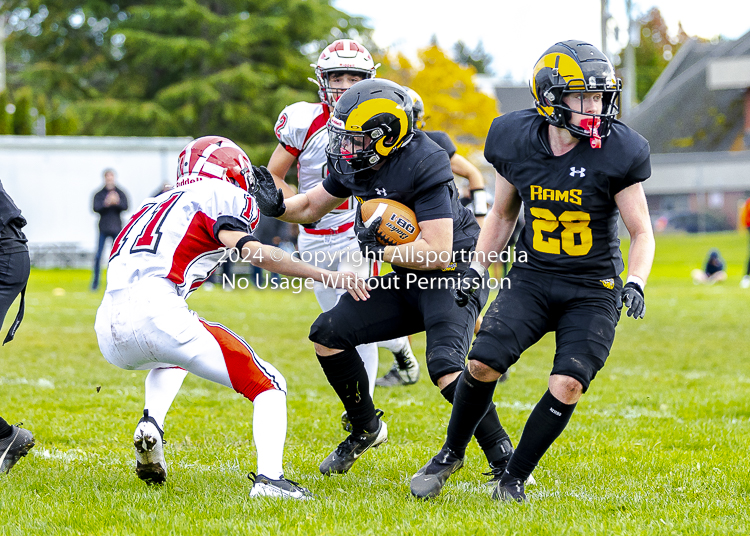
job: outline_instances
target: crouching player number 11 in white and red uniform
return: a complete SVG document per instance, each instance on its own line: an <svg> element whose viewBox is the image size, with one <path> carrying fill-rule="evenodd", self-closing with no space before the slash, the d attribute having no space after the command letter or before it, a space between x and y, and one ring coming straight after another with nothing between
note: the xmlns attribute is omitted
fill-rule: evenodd
<svg viewBox="0 0 750 536"><path fill-rule="evenodd" d="M179 157L176 187L146 199L115 239L95 329L107 361L126 370L149 370L143 418L134 434L139 478L166 480L164 419L192 372L253 402L258 474L252 474L250 496L304 499L309 492L282 474L284 377L242 338L199 318L185 300L227 248L273 272L325 280L356 299L368 294L354 273L317 268L257 241L252 235L260 217L252 196L256 172L244 151L226 138L207 136L188 144Z"/></svg>

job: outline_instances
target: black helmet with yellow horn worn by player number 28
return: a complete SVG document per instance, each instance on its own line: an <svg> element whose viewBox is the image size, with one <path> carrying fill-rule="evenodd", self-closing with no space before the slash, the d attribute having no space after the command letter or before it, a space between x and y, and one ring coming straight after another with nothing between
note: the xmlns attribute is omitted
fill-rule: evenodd
<svg viewBox="0 0 750 536"><path fill-rule="evenodd" d="M579 139L607 136L620 111L622 80L615 76L607 56L584 41L563 41L548 48L534 66L530 89L537 111L547 122ZM583 113L563 104L565 95L598 92L603 96L601 114ZM589 123L598 129L571 125L573 112L590 116Z"/></svg>

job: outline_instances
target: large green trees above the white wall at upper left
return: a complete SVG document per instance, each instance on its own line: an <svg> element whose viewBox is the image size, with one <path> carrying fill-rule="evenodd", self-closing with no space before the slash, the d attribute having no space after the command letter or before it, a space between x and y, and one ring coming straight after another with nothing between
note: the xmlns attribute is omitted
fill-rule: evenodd
<svg viewBox="0 0 750 536"><path fill-rule="evenodd" d="M227 136L266 162L281 109L317 100L311 61L371 44L329 0L6 1L9 100L43 95L48 132Z"/></svg>

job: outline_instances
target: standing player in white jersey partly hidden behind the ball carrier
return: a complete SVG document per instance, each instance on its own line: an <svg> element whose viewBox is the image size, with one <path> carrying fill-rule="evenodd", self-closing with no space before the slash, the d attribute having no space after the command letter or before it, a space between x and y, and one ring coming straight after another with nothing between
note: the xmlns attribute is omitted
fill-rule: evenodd
<svg viewBox="0 0 750 536"><path fill-rule="evenodd" d="M331 110L349 87L360 80L373 78L378 66L365 47L351 39L339 39L328 45L321 52L317 64L312 64L311 67L315 68L317 80L311 80L318 85L321 102L297 102L287 106L276 122L275 132L279 145L271 156L268 170L285 197L297 193L284 182L284 177L295 160L298 162L299 193L312 190L328 175L326 124ZM303 258L312 258L316 266L321 268L355 270L362 277L378 275L379 265L351 262L353 253L359 249L353 229L355 213L356 201L350 197L319 221L300 225L297 244ZM334 288L317 283L314 291L323 311L332 309L342 294ZM417 382L419 363L407 337L366 344L357 350L370 379L370 395L375 388L378 372L377 346L393 352L399 365L398 374L402 384ZM344 426L346 428L345 419Z"/></svg>

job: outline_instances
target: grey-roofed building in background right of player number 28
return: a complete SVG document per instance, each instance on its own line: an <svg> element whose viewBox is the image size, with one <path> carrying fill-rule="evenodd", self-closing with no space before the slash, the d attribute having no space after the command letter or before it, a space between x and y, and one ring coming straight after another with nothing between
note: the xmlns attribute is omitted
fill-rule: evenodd
<svg viewBox="0 0 750 536"><path fill-rule="evenodd" d="M736 227L750 194L750 32L685 43L623 121L651 144L657 229Z"/></svg>

